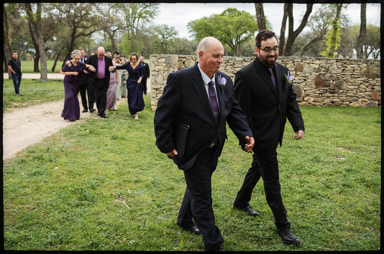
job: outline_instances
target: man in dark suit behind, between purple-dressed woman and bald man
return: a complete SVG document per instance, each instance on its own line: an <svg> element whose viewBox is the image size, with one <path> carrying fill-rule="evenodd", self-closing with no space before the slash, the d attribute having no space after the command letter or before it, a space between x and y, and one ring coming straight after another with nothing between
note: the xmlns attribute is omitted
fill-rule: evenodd
<svg viewBox="0 0 384 254"><path fill-rule="evenodd" d="M85 56L85 51L83 48L78 48L77 50L80 51L80 62L86 63L88 60L88 57ZM84 110L82 111L83 113L88 112L88 106L87 106L87 96L85 95L85 91L87 91L88 94L88 105L89 105L89 112L96 111L93 108L93 103L94 103L94 94L93 94L93 88L89 84L89 72L84 70L83 75L78 79L79 81L79 92L81 96L81 104L83 104Z"/></svg>

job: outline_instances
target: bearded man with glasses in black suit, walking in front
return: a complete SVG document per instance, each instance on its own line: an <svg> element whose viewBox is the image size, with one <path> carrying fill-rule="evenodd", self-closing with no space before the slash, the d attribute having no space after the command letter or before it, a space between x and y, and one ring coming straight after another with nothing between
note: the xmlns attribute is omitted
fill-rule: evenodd
<svg viewBox="0 0 384 254"><path fill-rule="evenodd" d="M296 101L292 82L286 77L288 68L276 63L279 47L274 32L261 30L256 36L256 59L237 71L235 99L240 103L248 125L255 137L253 161L238 191L233 207L258 216L249 206L253 188L260 176L264 181L265 198L270 206L277 233L285 243L298 243L286 218L281 199L276 148L283 139L286 118L296 132L295 139L304 135L304 121Z"/></svg>

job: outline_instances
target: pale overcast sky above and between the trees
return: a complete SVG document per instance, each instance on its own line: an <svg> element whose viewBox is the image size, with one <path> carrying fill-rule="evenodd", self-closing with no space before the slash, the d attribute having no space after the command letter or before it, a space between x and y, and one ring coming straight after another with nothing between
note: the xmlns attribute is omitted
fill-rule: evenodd
<svg viewBox="0 0 384 254"><path fill-rule="evenodd" d="M156 25L167 24L175 27L179 31L180 38L190 37L188 33L187 24L191 20L199 19L204 16L209 17L211 14L218 14L227 8L237 8L238 10L245 10L252 15L256 15L254 3L161 3L160 13L154 18L153 22ZM276 35L280 35L281 20L283 18L284 3L264 3L264 15L269 20L272 30ZM321 4L313 5L311 14L321 8ZM296 30L300 25L301 19L306 11L306 4L294 3L293 4L293 29ZM367 24L371 23L380 26L380 6L375 3L367 3ZM351 20L351 25L360 23L360 4L351 3L348 5L347 14ZM311 17L311 15L310 15ZM286 26L286 36L288 35L288 20Z"/></svg>

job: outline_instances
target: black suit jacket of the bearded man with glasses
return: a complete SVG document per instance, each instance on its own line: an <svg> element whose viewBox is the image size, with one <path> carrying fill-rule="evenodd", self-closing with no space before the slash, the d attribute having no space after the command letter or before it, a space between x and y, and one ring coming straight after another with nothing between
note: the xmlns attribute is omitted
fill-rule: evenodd
<svg viewBox="0 0 384 254"><path fill-rule="evenodd" d="M235 75L235 99L252 129L254 149L273 149L277 142L281 146L286 118L295 132L304 131L297 95L292 85L285 90L288 68L279 63L274 68L276 88L258 56Z"/></svg>

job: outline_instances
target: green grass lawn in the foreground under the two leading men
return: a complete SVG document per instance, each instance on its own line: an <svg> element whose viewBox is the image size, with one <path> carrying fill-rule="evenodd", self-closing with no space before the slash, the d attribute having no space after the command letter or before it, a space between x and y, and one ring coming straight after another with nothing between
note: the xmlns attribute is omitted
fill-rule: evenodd
<svg viewBox="0 0 384 254"><path fill-rule="evenodd" d="M155 146L149 96L87 119L3 161L6 250L204 251L175 221L184 174ZM278 147L281 194L300 245L283 244L260 181L246 216L232 204L252 160L228 128L212 176L216 224L229 251L366 251L380 247L381 108L300 107ZM128 209L118 196L129 206Z"/></svg>

